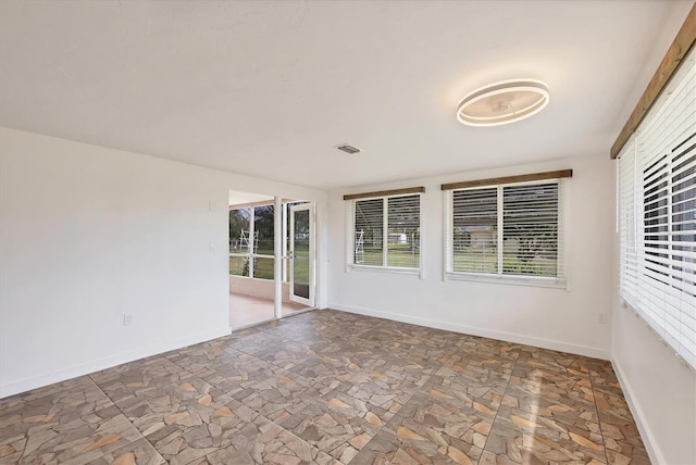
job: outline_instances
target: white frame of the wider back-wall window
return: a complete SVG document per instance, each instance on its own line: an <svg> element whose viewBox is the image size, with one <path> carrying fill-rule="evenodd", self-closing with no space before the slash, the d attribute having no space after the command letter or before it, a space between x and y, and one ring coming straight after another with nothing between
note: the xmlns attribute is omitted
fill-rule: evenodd
<svg viewBox="0 0 696 465"><path fill-rule="evenodd" d="M537 186L556 184L558 186L558 257L557 257L557 275L556 276L535 276L535 275L513 275L505 273L502 262L499 263L497 273L476 273L476 272L456 272L453 271L453 251L455 251L455 234L453 234L453 200L455 192L463 190L477 190L486 188L497 189L497 254L498 261L502 260L505 248L501 247L501 242L505 238L504 229L504 189L511 186ZM461 281L480 281L480 282L494 282L518 286L533 286L533 287L547 287L547 288L560 288L569 289L569 269L567 260L567 243L568 243L568 228L566 225L566 214L568 211L568 188L567 179L564 177L548 178L548 179L534 179L520 183L498 183L481 186L471 186L457 189L443 190L444 194L444 254L443 254L443 280L461 280Z"/></svg>

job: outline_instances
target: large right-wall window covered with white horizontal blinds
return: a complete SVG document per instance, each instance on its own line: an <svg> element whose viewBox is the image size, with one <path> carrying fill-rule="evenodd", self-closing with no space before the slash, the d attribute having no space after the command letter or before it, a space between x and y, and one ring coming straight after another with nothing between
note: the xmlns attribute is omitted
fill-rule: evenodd
<svg viewBox="0 0 696 465"><path fill-rule="evenodd" d="M622 299L696 367L696 66L683 61L619 154Z"/></svg>

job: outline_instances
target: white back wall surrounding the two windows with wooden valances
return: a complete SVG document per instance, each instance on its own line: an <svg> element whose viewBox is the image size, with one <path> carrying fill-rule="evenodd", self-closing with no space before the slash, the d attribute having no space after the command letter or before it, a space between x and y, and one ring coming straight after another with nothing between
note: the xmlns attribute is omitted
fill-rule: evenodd
<svg viewBox="0 0 696 465"><path fill-rule="evenodd" d="M443 280L442 183L572 168L568 183L570 289ZM330 305L335 309L609 359L612 296L613 179L607 154L452 174L330 192ZM425 186L424 278L346 272L343 194Z"/></svg>

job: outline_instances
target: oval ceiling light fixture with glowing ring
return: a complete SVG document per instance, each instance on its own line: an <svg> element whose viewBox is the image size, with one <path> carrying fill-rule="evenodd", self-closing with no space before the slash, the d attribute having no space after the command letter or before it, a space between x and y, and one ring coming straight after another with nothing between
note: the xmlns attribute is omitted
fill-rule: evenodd
<svg viewBox="0 0 696 465"><path fill-rule="evenodd" d="M548 86L540 80L501 80L464 97L457 120L468 126L500 126L540 112L548 99Z"/></svg>

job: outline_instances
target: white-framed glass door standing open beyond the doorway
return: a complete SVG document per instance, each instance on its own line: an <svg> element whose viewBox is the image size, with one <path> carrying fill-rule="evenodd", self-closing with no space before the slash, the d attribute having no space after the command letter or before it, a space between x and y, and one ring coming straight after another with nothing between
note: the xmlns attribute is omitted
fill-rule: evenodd
<svg viewBox="0 0 696 465"><path fill-rule="evenodd" d="M290 206L290 300L314 306L314 212L312 203Z"/></svg>

